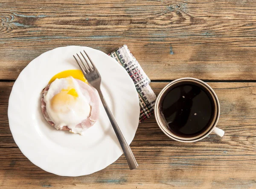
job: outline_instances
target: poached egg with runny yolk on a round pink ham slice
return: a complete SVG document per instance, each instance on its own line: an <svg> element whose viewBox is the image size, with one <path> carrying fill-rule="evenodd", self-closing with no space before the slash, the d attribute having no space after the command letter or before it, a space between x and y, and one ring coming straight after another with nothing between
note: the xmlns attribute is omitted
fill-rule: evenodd
<svg viewBox="0 0 256 189"><path fill-rule="evenodd" d="M96 89L79 71L68 70L52 77L43 91L41 106L44 117L56 129L82 134L98 118L99 99Z"/></svg>

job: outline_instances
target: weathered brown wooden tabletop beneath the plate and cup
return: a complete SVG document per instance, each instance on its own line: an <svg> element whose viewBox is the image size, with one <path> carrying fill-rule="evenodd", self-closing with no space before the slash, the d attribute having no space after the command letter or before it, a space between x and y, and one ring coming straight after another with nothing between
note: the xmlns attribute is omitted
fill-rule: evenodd
<svg viewBox="0 0 256 189"><path fill-rule="evenodd" d="M170 81L207 81L221 104L219 128L196 143L163 134L154 117L106 169L76 178L33 165L15 144L7 107L12 85L35 57L59 46L105 53L127 44L158 94ZM256 188L256 1L0 0L0 188Z"/></svg>

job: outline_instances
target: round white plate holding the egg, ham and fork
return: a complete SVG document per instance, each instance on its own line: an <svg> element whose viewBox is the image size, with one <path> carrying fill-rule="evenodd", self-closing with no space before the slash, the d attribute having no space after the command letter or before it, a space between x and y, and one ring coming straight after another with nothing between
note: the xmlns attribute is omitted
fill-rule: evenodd
<svg viewBox="0 0 256 189"><path fill-rule="evenodd" d="M139 124L140 106L134 83L112 57L81 46L59 47L41 54L23 69L13 85L9 126L15 143L32 163L61 176L91 174L123 153L101 103L99 120L84 135L58 131L42 115L42 89L55 74L79 69L73 54L82 50L89 54L102 76L102 92L128 144Z"/></svg>

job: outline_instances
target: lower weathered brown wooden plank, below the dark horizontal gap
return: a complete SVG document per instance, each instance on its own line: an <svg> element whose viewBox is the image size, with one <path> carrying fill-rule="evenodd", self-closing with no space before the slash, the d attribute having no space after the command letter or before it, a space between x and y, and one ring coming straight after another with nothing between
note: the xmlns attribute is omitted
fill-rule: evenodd
<svg viewBox="0 0 256 189"><path fill-rule="evenodd" d="M152 82L158 94L166 82ZM13 82L0 82L0 188L255 188L256 83L208 82L221 103L219 128L196 143L163 134L154 117L138 127L131 149L139 163L128 169L124 155L92 175L60 177L33 165L17 148L9 130L7 107Z"/></svg>

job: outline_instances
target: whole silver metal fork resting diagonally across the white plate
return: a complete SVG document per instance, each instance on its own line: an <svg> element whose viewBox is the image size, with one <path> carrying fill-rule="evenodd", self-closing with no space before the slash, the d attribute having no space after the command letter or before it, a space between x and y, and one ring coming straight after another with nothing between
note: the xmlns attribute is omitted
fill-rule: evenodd
<svg viewBox="0 0 256 189"><path fill-rule="evenodd" d="M130 169L136 169L138 167L138 163L134 158L133 153L131 152L131 148L128 145L128 143L125 140L125 137L123 136L121 130L119 129L118 124L116 123L116 120L112 114L112 112L110 111L108 104L106 103L103 94L101 92L100 89L100 84L101 84L101 76L98 72L98 70L96 69L93 61L90 59L90 57L88 56L88 54L84 51L85 55L87 56L88 60L90 60L90 63L87 61L87 59L84 57L84 54L82 52L80 52L82 57L84 59L82 59L79 54L76 53L76 55L79 57L79 59L81 60L81 63L76 59L76 57L73 55L73 57L75 58L76 62L78 63L78 65L80 66L84 77L87 79L88 83L90 83L91 86L93 86L99 93L99 97L100 100L102 101L102 104L104 106L105 111L107 112L108 118L111 122L111 125L113 126L113 129L116 133L116 136L119 140L119 143L122 147L122 150L125 154L125 158L128 162L128 165L130 167ZM83 66L84 68L83 68Z"/></svg>

